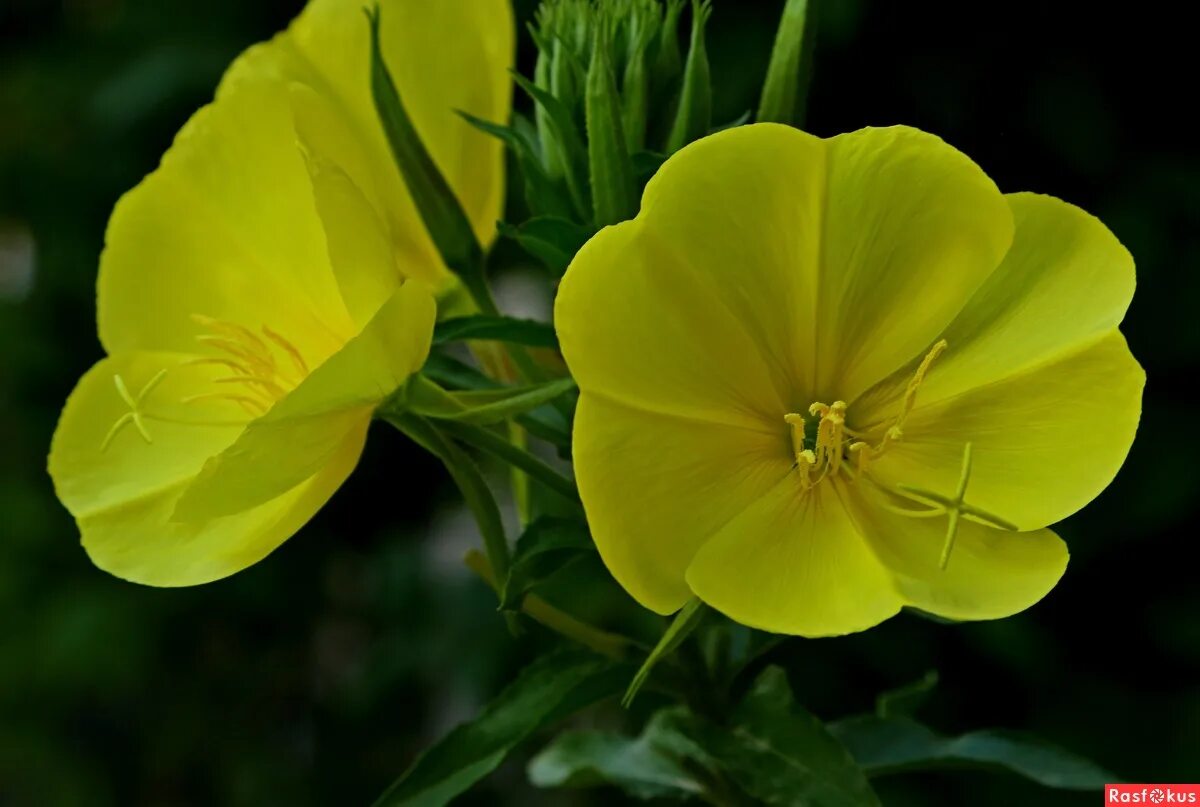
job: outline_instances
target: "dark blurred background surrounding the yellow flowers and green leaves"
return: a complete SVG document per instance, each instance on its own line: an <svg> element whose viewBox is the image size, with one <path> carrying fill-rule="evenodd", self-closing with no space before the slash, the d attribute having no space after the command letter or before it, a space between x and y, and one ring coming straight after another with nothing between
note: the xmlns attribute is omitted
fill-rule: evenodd
<svg viewBox="0 0 1200 807"><path fill-rule="evenodd" d="M714 5L718 119L732 120L754 106L781 2ZM307 528L199 588L95 569L50 490L59 407L101 354L92 288L113 203L230 58L298 7L0 0L0 805L367 803L528 652L458 566L473 527L444 476L383 428ZM1003 190L1097 214L1138 259L1124 333L1148 384L1116 483L1061 526L1072 564L1042 604L955 627L900 616L791 641L780 660L822 717L936 668L938 728L1030 729L1130 781L1195 782L1195 46L1176 7L1097 8L826 2L810 128L919 126ZM880 788L886 805L1100 803L990 773ZM532 791L518 760L463 803L617 799Z"/></svg>

